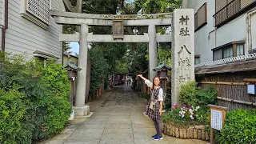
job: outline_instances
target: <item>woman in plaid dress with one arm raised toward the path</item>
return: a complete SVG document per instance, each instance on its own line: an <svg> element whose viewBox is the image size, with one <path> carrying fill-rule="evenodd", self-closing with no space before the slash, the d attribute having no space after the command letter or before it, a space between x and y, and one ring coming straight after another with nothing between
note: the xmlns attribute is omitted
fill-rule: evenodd
<svg viewBox="0 0 256 144"><path fill-rule="evenodd" d="M144 78L142 74L138 74L138 77L142 78L145 81L145 84L151 88L150 92L150 101L146 106L146 115L152 118L154 122L154 127L157 134L154 134L152 138L155 141L162 139L162 94L163 90L160 87L160 79L158 77L154 77L153 83L148 79Z"/></svg>

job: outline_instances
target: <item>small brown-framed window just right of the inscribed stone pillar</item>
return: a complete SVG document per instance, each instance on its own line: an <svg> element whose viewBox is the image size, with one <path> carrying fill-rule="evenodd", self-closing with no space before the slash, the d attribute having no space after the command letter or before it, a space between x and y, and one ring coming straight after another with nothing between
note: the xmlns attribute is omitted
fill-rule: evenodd
<svg viewBox="0 0 256 144"><path fill-rule="evenodd" d="M199 30L207 24L207 3L204 3L194 14L194 30Z"/></svg>

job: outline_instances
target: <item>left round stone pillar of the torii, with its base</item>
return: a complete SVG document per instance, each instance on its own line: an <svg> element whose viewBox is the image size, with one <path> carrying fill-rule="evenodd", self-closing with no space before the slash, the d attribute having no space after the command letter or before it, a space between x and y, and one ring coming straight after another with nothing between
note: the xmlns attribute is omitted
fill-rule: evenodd
<svg viewBox="0 0 256 144"><path fill-rule="evenodd" d="M86 24L81 25L80 43L79 43L79 58L78 68L82 69L78 71L78 86L75 98L74 115L85 116L90 112L89 106L85 106L86 99L86 69L87 69L87 35L88 26Z"/></svg>

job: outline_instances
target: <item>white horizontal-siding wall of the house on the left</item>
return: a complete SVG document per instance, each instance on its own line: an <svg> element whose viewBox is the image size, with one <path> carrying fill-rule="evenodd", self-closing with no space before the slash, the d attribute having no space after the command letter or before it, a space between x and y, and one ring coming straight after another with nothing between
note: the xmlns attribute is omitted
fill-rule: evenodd
<svg viewBox="0 0 256 144"><path fill-rule="evenodd" d="M54 23L54 18L50 17L49 29L44 30L42 27L34 24L34 22L23 18L20 10L22 1L25 0L9 1L9 27L6 30L6 52L12 54L25 52L28 54L28 58L32 58L33 52L40 50L59 58L58 62L61 63L62 42L59 42L59 34L62 33L62 26ZM52 10L63 10L62 1L52 0L51 2Z"/></svg>

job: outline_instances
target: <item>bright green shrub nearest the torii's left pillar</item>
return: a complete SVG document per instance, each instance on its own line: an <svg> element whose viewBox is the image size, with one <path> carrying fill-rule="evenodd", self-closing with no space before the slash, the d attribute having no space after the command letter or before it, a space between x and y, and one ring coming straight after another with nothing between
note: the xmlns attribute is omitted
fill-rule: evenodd
<svg viewBox="0 0 256 144"><path fill-rule="evenodd" d="M53 60L48 60L46 63L47 66L41 67L42 78L40 78L46 86L41 89L44 90L44 98L43 101L36 102L39 105L46 102L46 105L41 107L44 122L40 126L42 134L39 133L38 138L49 138L52 134L63 130L71 113L71 104L68 99L70 82L66 70Z"/></svg>

